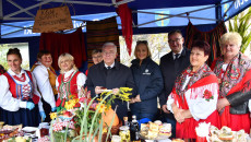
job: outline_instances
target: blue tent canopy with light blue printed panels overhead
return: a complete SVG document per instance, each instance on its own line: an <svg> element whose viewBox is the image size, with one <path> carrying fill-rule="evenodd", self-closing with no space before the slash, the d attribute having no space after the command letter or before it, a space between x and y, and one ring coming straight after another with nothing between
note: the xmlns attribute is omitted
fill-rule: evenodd
<svg viewBox="0 0 251 142"><path fill-rule="evenodd" d="M83 21L101 20L116 14L118 4L133 10L134 33L156 33L158 27L215 25L251 4L248 0L0 0L1 38L39 36L32 33L37 10L68 4L74 28ZM62 3L63 2L63 3ZM232 7L234 5L234 7ZM223 7L223 8L222 8ZM223 16L226 15L226 16ZM118 19L118 23L120 20ZM156 29L147 29L155 27ZM83 27L84 29L84 27ZM163 31L166 32L166 31ZM0 42L1 43L1 42Z"/></svg>

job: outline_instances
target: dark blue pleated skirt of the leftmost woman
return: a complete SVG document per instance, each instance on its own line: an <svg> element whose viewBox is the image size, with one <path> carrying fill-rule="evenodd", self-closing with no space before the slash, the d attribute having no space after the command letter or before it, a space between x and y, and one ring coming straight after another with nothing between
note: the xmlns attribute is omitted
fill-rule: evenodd
<svg viewBox="0 0 251 142"><path fill-rule="evenodd" d="M38 127L40 122L40 116L38 111L38 105L29 110L26 108L20 108L17 111L8 111L0 107L0 121L4 121L4 125L23 125L23 127Z"/></svg>

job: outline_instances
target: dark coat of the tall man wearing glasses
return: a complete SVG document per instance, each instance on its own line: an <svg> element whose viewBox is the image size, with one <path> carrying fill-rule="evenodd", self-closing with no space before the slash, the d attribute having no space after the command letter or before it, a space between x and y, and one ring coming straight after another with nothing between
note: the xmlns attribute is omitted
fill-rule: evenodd
<svg viewBox="0 0 251 142"><path fill-rule="evenodd" d="M164 90L159 95L160 106L167 103L167 97L171 93L176 78L190 64L190 50L183 48L180 57L174 60L172 51L160 58L160 70L164 78Z"/></svg>

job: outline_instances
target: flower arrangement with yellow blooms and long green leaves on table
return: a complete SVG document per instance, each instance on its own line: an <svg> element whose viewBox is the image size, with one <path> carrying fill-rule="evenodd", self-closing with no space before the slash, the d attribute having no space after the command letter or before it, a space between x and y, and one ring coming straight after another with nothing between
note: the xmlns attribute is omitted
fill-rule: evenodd
<svg viewBox="0 0 251 142"><path fill-rule="evenodd" d="M51 141L94 141L100 142L103 133L106 132L105 141L108 140L112 125L118 120L115 111L111 109L111 103L115 99L121 99L124 102L130 100L128 93L132 88L120 87L118 94L110 92L104 92L100 97L91 98L91 92L86 88L81 90L79 94L80 98L69 99L65 102L64 108L58 113L51 113L50 117ZM95 100L96 99L96 100ZM76 104L81 104L81 107L75 107ZM111 111L111 114L108 114Z"/></svg>

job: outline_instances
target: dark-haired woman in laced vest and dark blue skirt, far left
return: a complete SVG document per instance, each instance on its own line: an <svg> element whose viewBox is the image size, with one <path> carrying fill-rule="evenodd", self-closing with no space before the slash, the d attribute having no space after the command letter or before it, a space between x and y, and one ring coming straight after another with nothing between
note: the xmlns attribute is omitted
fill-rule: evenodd
<svg viewBox="0 0 251 142"><path fill-rule="evenodd" d="M7 125L37 127L45 116L36 80L21 68L22 56L17 48L7 54L9 70L0 76L0 120ZM43 118L44 119L44 118Z"/></svg>

